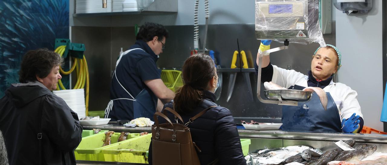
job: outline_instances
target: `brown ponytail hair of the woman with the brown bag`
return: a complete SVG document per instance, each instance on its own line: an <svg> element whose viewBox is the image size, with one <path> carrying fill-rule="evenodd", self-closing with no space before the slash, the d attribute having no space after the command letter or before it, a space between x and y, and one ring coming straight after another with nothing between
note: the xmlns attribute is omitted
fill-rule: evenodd
<svg viewBox="0 0 387 165"><path fill-rule="evenodd" d="M215 75L216 68L208 54L188 57L182 69L185 84L176 91L173 99L175 111L188 112L199 106L203 101L203 91L208 89L208 83Z"/></svg>

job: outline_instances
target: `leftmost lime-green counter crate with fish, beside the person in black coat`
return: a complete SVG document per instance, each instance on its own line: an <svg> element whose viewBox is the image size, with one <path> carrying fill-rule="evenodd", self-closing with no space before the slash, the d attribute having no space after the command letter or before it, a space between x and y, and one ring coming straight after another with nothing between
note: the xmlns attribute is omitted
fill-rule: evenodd
<svg viewBox="0 0 387 165"><path fill-rule="evenodd" d="M111 135L111 144L117 143L121 133L114 133ZM127 140L140 136L139 133L130 133L127 136ZM107 146L102 146L105 140L105 133L98 133L95 135L82 138L78 147L75 149L76 160L90 160L90 161L105 161L101 150ZM125 141L127 141L125 140Z"/></svg>

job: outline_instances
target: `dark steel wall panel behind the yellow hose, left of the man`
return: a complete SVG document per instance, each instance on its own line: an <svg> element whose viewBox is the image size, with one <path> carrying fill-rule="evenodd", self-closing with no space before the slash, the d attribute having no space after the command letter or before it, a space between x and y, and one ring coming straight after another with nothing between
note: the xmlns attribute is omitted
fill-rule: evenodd
<svg viewBox="0 0 387 165"><path fill-rule="evenodd" d="M110 100L110 27L72 27L71 37L71 42L85 44L86 48L84 55L90 77L89 111L104 110Z"/></svg>

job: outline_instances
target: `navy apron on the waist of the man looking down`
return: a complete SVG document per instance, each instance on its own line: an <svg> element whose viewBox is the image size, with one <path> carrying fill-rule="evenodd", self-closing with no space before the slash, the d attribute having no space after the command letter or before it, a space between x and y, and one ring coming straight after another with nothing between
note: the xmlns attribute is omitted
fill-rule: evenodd
<svg viewBox="0 0 387 165"><path fill-rule="evenodd" d="M134 118L149 118L153 119L153 114L156 112L157 98L149 88L144 88L136 96L133 103Z"/></svg>

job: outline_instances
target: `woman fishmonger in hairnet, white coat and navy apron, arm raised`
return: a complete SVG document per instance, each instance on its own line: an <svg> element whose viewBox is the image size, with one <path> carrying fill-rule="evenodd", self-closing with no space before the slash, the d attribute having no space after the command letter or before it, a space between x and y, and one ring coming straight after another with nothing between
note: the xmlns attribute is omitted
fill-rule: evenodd
<svg viewBox="0 0 387 165"><path fill-rule="evenodd" d="M255 70L258 72L259 55L270 49L271 40L262 40L257 54ZM341 67L341 52L327 44L313 54L311 71L304 75L270 63L270 57L262 57L262 82L272 82L287 89L302 90L306 87L322 88L327 94L327 107L323 108L319 96L312 94L307 102L298 106L283 106L282 130L313 132L358 133L363 128L363 114L357 93L349 86L334 83L333 75Z"/></svg>

